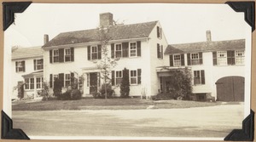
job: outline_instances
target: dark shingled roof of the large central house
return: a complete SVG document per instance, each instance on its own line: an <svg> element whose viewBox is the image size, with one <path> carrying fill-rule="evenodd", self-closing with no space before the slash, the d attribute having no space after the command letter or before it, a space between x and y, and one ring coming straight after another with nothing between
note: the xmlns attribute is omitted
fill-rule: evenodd
<svg viewBox="0 0 256 142"><path fill-rule="evenodd" d="M151 21L131 25L110 26L108 34L110 40L148 37L157 22ZM43 48L73 43L99 42L99 33L99 29L62 32L44 44Z"/></svg>

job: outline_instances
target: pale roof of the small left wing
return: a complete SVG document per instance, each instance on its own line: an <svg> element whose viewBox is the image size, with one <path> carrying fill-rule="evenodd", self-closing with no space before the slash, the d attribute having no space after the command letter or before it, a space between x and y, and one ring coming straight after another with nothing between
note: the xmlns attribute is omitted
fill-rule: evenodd
<svg viewBox="0 0 256 142"><path fill-rule="evenodd" d="M44 50L41 46L31 47L31 48L17 48L12 53L12 60L33 58L33 57L43 57Z"/></svg>

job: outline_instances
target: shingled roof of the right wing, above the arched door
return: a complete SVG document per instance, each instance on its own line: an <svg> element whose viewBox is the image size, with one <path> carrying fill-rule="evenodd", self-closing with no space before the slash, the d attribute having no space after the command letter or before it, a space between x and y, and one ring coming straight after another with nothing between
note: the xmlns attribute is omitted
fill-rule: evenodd
<svg viewBox="0 0 256 142"><path fill-rule="evenodd" d="M171 44L168 45L168 47L166 48L165 54L218 51L240 48L245 48L245 39L216 42Z"/></svg>

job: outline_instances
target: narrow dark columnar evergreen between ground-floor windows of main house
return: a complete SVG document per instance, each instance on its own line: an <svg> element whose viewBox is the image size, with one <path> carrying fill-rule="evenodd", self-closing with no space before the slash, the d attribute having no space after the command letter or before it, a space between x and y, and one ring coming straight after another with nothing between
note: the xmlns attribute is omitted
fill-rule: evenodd
<svg viewBox="0 0 256 142"><path fill-rule="evenodd" d="M122 98L128 98L130 94L129 70L123 70L123 79L120 85L120 94Z"/></svg>

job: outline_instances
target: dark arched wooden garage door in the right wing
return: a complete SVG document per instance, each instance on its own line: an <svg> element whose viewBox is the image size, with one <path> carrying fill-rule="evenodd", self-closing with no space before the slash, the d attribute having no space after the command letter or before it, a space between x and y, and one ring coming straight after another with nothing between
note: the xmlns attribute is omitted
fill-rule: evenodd
<svg viewBox="0 0 256 142"><path fill-rule="evenodd" d="M222 77L216 82L219 101L243 101L244 77Z"/></svg>

